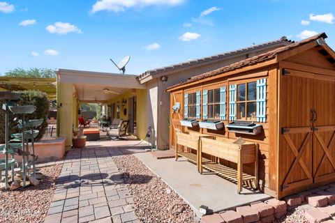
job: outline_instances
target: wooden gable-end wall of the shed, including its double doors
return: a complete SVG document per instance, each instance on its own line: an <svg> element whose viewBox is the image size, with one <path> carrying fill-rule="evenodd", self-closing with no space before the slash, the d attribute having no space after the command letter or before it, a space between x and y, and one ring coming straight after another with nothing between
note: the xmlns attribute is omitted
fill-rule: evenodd
<svg viewBox="0 0 335 223"><path fill-rule="evenodd" d="M329 63L318 52L320 47L308 49L305 52L291 56L288 59L278 63L278 69L283 72L283 69L290 72L289 79L280 75L279 86L280 91L280 107L278 116L279 128L285 126L306 126L310 123L311 114L309 111L301 112L299 117L292 115L292 109L298 107L319 107L318 126L335 125L335 68L332 63ZM307 98L317 98L316 100L304 100ZM321 109L321 111L320 111ZM290 114L290 115L289 115ZM322 116L320 116L322 114ZM316 127L318 128L318 127ZM329 128L329 127L328 127ZM307 128L306 128L307 129ZM321 130L322 128L320 128ZM299 148L302 139L311 134L309 141L304 145L304 152L301 153L301 161L311 176L306 174L301 165L297 164L294 171L288 174L292 162L295 160L295 155L283 137L283 134L278 134L278 190L277 197L285 197L289 194L300 192L301 190L311 189L318 185L334 182L335 174L332 163L327 159L327 155L322 150L318 138L311 131L291 134L292 143ZM329 153L333 155L334 162L335 144L332 142L334 131L317 132L321 140L325 141L329 148ZM312 140L313 138L313 140ZM308 139L306 139L308 140ZM334 139L333 139L334 140ZM325 157L324 157L325 156ZM322 158L324 157L324 158ZM319 168L320 166L320 168ZM288 176L287 176L288 175ZM287 178L287 179L285 179ZM283 181L285 180L285 184Z"/></svg>

